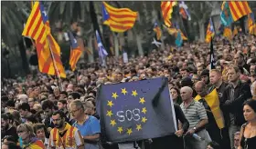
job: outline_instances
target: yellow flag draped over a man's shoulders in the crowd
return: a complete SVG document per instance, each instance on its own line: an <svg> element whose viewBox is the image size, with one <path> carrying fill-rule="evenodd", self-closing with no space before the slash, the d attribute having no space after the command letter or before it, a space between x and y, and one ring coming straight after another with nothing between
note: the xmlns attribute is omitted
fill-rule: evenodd
<svg viewBox="0 0 256 149"><path fill-rule="evenodd" d="M196 101L203 100L202 97L197 94L195 97ZM215 122L218 125L219 129L224 128L225 122L224 122L224 117L223 114L219 108L219 95L216 89L213 89L209 94L207 94L204 97L204 100L207 102L210 111L212 112Z"/></svg>

